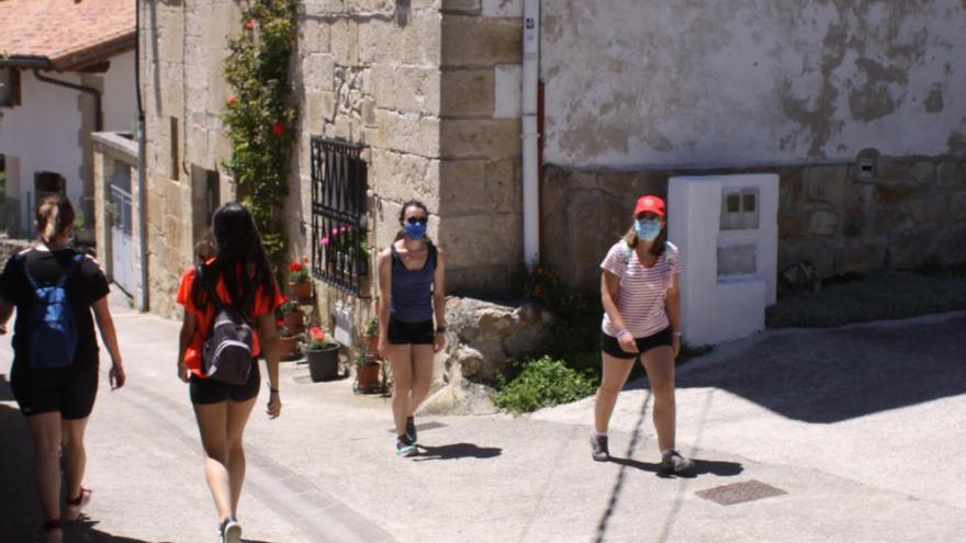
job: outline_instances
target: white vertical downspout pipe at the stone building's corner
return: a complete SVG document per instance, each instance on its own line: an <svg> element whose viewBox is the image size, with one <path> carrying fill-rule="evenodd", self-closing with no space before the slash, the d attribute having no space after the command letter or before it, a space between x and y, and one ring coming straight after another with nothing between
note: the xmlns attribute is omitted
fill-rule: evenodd
<svg viewBox="0 0 966 543"><path fill-rule="evenodd" d="M524 0L523 162L524 261L528 270L540 262L540 190L537 88L540 76L540 0Z"/></svg>

